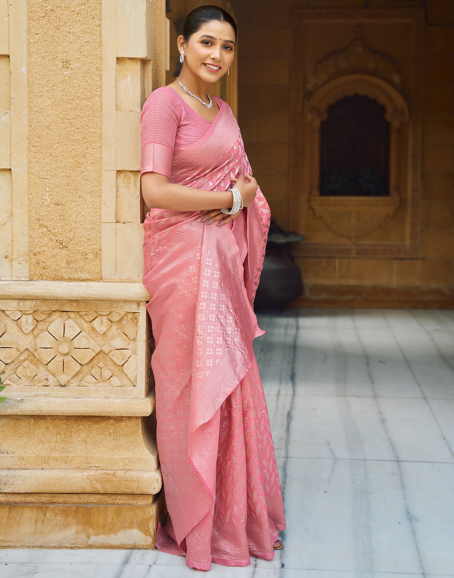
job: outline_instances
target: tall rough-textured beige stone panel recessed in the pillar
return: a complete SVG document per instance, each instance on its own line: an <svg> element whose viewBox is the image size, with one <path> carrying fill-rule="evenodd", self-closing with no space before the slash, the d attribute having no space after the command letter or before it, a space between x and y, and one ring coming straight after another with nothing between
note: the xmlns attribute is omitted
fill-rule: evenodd
<svg viewBox="0 0 454 578"><path fill-rule="evenodd" d="M27 69L30 276L98 281L101 0L36 0L24 22L34 40Z"/></svg>

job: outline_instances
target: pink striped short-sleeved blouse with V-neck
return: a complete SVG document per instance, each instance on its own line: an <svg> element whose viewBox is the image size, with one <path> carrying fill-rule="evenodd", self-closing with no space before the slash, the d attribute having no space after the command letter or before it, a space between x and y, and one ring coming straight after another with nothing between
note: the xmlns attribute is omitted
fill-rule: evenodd
<svg viewBox="0 0 454 578"><path fill-rule="evenodd" d="M220 97L214 98L220 114L224 101ZM140 176L144 172L152 171L169 179L174 151L196 143L210 130L212 124L169 86L162 86L151 92L143 105L140 122Z"/></svg>

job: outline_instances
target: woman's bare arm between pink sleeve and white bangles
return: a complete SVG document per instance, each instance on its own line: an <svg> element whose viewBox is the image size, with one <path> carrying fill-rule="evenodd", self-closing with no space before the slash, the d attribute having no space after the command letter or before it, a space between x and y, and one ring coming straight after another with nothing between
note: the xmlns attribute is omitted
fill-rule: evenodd
<svg viewBox="0 0 454 578"><path fill-rule="evenodd" d="M230 191L204 191L170 183L169 178L155 172L145 172L141 178L142 196L147 207L177 211L202 211L231 207Z"/></svg>

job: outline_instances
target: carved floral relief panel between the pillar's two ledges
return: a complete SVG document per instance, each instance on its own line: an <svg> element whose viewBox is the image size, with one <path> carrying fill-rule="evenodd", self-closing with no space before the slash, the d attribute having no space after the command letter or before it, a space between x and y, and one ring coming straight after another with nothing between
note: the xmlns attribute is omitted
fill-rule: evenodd
<svg viewBox="0 0 454 578"><path fill-rule="evenodd" d="M139 313L0 309L0 371L15 387L134 387Z"/></svg>

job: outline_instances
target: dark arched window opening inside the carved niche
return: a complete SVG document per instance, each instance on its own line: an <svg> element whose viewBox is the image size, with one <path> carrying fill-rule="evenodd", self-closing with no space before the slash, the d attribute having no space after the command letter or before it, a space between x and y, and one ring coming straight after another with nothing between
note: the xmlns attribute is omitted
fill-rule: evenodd
<svg viewBox="0 0 454 578"><path fill-rule="evenodd" d="M358 94L328 108L320 128L320 194L389 195L389 123L385 107Z"/></svg>

